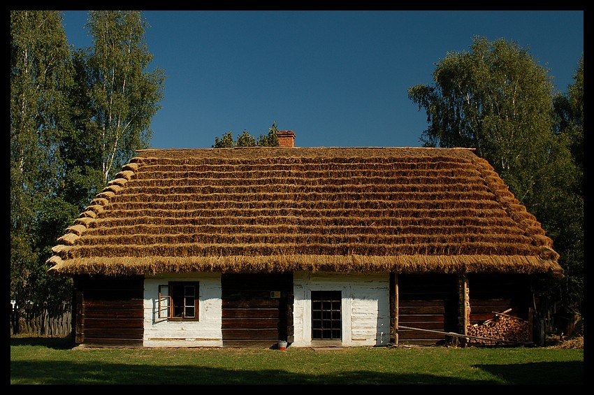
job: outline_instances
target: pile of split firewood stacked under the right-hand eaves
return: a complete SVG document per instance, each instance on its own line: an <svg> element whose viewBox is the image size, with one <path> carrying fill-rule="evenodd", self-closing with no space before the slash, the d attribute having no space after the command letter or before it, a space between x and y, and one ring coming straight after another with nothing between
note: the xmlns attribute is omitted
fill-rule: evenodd
<svg viewBox="0 0 594 395"><path fill-rule="evenodd" d="M503 313L493 312L495 315L481 324L469 325L466 329L470 343L479 345L495 345L497 340L507 340L519 343L530 342L530 323L525 319L507 315L511 309ZM487 340L493 339L493 340Z"/></svg>

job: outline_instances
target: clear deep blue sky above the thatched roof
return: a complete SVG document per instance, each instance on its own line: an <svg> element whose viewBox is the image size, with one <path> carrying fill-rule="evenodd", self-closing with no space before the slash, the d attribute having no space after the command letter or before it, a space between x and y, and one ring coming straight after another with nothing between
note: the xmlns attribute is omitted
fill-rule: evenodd
<svg viewBox="0 0 594 395"><path fill-rule="evenodd" d="M210 148L215 136L267 134L300 147L413 147L426 114L407 96L474 36L528 49L567 92L584 52L584 11L149 10L149 69L166 73L152 148ZM64 28L89 47L87 11Z"/></svg>

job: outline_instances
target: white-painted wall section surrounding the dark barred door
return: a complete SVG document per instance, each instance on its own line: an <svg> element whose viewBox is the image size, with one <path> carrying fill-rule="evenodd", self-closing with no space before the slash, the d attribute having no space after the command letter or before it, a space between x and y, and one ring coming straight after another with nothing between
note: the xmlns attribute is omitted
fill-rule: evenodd
<svg viewBox="0 0 594 395"><path fill-rule="evenodd" d="M389 274L294 273L294 343L312 346L312 291L342 292L343 346L380 346L390 340Z"/></svg>

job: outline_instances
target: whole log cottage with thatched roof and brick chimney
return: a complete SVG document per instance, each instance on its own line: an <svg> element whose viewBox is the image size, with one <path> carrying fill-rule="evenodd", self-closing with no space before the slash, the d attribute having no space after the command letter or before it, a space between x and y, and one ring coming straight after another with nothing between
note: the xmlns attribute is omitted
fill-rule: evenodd
<svg viewBox="0 0 594 395"><path fill-rule="evenodd" d="M138 151L48 260L73 278L75 342L533 341L533 280L563 270L484 159L282 137L288 147Z"/></svg>

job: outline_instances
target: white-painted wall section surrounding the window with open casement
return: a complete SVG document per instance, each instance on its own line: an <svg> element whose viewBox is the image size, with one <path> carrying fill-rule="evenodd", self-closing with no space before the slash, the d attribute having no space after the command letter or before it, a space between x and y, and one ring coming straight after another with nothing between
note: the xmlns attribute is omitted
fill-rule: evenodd
<svg viewBox="0 0 594 395"><path fill-rule="evenodd" d="M159 319L159 285L168 281L200 282L198 321ZM221 273L147 275L144 299L144 347L222 347Z"/></svg>

